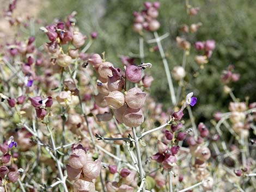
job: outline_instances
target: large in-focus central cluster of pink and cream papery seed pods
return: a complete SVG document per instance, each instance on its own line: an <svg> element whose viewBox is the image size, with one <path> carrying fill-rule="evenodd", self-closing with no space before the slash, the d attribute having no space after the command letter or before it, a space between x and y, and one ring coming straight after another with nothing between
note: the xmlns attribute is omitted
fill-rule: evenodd
<svg viewBox="0 0 256 192"><path fill-rule="evenodd" d="M138 87L126 90L126 81L138 83L142 80L142 70L151 64L139 66L125 66L125 71L115 68L112 63L102 61L99 54L94 54L89 59L94 66L99 80L97 80L98 94L95 95L97 106L109 107L113 110L115 118L127 127L138 127L144 122L142 107L146 93ZM112 116L105 114L105 121ZM102 116L103 118L103 116Z"/></svg>

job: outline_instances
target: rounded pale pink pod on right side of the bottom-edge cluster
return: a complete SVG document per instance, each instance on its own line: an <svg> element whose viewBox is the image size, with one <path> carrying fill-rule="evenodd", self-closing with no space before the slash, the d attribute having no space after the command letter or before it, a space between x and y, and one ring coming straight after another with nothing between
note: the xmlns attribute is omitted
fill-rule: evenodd
<svg viewBox="0 0 256 192"><path fill-rule="evenodd" d="M100 169L101 169L101 161L99 159L95 161L87 160L85 165L82 168L83 174L90 179L95 179L99 177Z"/></svg>

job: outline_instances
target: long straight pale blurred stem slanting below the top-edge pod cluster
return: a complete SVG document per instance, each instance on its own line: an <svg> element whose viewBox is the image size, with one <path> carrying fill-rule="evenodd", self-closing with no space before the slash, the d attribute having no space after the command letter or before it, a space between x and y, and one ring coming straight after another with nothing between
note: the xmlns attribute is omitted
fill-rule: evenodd
<svg viewBox="0 0 256 192"><path fill-rule="evenodd" d="M157 46L159 47L159 52L161 54L161 58L162 58L162 61L163 61L164 70L166 71L166 77L167 77L169 90L170 90L170 98L171 98L171 101L172 101L173 105L175 105L176 104L176 97L175 97L172 77L170 76L170 70L169 70L167 60L166 60L166 56L164 55L161 40L159 39L159 36L158 36L157 32L154 32L154 35L155 35Z"/></svg>

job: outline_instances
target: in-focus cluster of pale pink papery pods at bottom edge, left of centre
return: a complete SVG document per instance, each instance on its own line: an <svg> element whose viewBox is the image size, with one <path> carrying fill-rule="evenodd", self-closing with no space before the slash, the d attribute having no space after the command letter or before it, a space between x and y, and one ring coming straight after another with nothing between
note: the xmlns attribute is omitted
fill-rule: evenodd
<svg viewBox="0 0 256 192"><path fill-rule="evenodd" d="M69 157L69 164L66 165L68 178L75 180L74 192L95 191L95 181L100 175L101 161L93 160L81 144L72 147Z"/></svg>

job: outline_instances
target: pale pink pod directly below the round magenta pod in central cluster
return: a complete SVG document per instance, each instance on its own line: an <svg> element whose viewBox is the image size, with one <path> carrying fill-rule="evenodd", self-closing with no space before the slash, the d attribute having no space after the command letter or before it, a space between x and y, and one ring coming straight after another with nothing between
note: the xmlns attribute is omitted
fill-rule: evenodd
<svg viewBox="0 0 256 192"><path fill-rule="evenodd" d="M132 109L139 109L143 107L146 95L147 94L141 89L135 87L127 91L127 94L125 95L125 102L128 107Z"/></svg>

